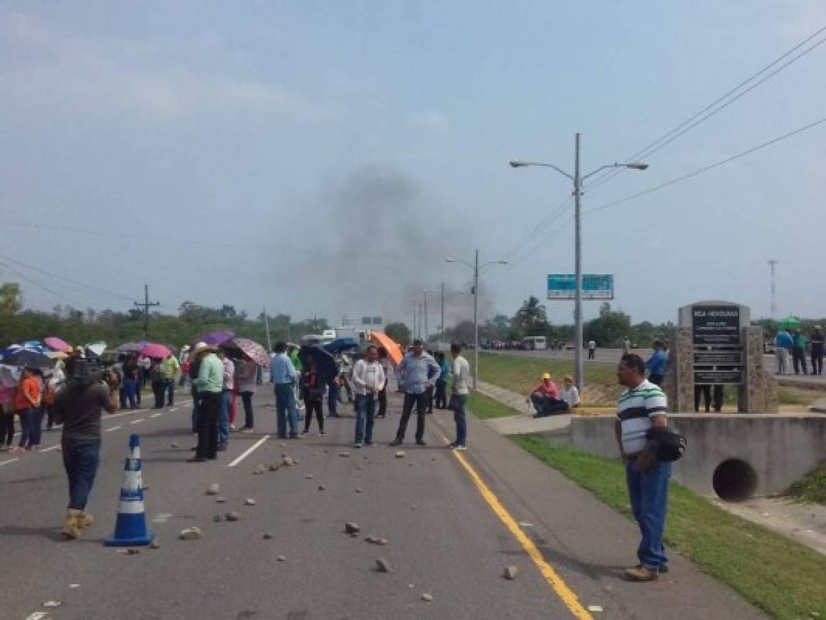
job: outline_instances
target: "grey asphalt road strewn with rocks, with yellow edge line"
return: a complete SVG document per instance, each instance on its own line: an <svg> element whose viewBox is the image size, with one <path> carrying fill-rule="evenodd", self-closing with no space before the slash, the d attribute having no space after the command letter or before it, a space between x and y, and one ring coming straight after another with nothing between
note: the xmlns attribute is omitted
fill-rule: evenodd
<svg viewBox="0 0 826 620"><path fill-rule="evenodd" d="M272 430L268 389L256 403L262 431ZM397 411L396 399L392 406ZM60 540L59 451L0 456L0 618L30 618L49 600L63 603L48 616L58 620L525 620L589 618L592 604L604 609L599 618L762 617L680 557L655 584L625 583L619 569L634 559L633 524L475 420L464 455L442 447L451 424L439 412L429 416L430 445L408 443L404 458L386 443L355 450L353 419L343 418L328 420L325 438L235 435L219 461L188 464L188 406L116 416L104 423L89 507L98 521L82 541ZM397 420L378 421L377 439L391 439ZM134 556L102 546L131 432L141 433L146 508L161 545ZM45 450L58 441L57 433L45 438ZM252 475L282 453L298 465ZM204 494L214 481L226 504ZM257 505L244 506L248 497ZM240 512L239 522L213 523L228 509ZM389 544L345 535L349 520ZM202 528L202 540L178 540L191 525ZM394 571L373 570L377 557ZM506 565L519 567L516 580L502 579ZM423 593L434 601L422 601Z"/></svg>

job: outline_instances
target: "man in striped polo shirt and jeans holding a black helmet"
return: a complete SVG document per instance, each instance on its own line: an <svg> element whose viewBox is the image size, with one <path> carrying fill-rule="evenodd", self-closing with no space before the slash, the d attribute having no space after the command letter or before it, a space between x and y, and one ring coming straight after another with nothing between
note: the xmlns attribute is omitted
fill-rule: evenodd
<svg viewBox="0 0 826 620"><path fill-rule="evenodd" d="M619 453L625 461L625 477L631 509L643 539L637 549L639 564L625 570L632 581L653 581L668 571L662 532L668 507L671 463L657 461L646 438L649 428L666 425L666 395L645 378L645 362L626 353L617 368L619 384L628 388L619 397L615 431Z"/></svg>

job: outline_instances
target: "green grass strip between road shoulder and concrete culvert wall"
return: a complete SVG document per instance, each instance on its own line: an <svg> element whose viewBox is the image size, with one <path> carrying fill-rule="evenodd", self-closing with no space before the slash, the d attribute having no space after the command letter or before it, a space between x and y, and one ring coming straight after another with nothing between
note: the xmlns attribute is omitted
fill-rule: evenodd
<svg viewBox="0 0 826 620"><path fill-rule="evenodd" d="M630 516L624 467L538 435L510 438L525 451ZM826 467L819 474L826 489ZM823 495L821 495L823 497ZM707 499L672 483L666 542L705 573L728 584L776 618L826 618L826 557L766 528L735 517Z"/></svg>

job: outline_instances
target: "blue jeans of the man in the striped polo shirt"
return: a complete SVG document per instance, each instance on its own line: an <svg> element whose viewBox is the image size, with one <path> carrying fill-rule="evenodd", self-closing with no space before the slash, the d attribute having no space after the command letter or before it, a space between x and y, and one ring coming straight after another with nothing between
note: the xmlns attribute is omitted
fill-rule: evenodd
<svg viewBox="0 0 826 620"><path fill-rule="evenodd" d="M625 463L625 478L631 509L643 534L637 549L639 563L650 570L659 570L668 564L662 532L666 526L671 463L655 462L648 470L637 472L634 471L634 462L628 461Z"/></svg>

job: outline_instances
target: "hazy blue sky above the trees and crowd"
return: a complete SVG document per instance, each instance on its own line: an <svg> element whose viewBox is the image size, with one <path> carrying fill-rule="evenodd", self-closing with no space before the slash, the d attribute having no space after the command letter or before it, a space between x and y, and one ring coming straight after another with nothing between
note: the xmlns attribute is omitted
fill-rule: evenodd
<svg viewBox="0 0 826 620"><path fill-rule="evenodd" d="M805 36L760 2L0 2L0 279L26 304L150 294L297 317L410 319L508 258L484 315L573 267L570 170L627 159ZM587 210L826 116L826 45L583 196ZM826 125L583 220L586 272L634 320L727 299L826 314ZM19 263L2 262L2 257ZM97 286L74 286L37 267ZM449 302L449 320L469 300ZM572 304L548 302L556 322ZM586 304L595 315L596 303ZM438 324L435 315L431 325Z"/></svg>

